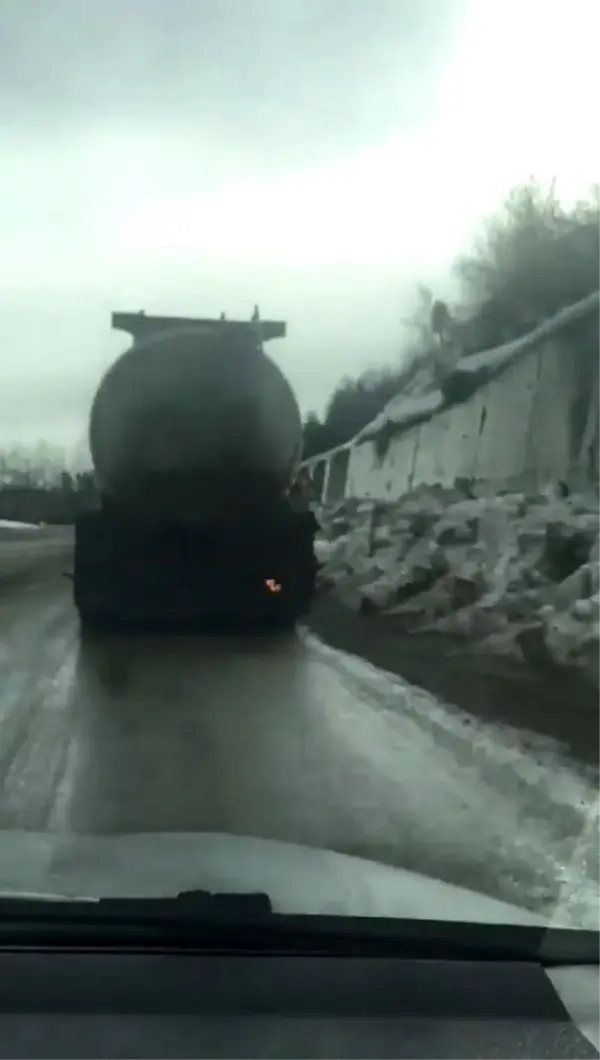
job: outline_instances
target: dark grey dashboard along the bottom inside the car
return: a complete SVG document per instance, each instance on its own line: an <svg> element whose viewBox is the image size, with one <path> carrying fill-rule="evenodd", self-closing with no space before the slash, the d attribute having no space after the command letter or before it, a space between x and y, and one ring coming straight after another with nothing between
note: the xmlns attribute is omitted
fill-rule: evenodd
<svg viewBox="0 0 600 1060"><path fill-rule="evenodd" d="M596 1060L525 961L0 951L15 1060Z"/></svg>

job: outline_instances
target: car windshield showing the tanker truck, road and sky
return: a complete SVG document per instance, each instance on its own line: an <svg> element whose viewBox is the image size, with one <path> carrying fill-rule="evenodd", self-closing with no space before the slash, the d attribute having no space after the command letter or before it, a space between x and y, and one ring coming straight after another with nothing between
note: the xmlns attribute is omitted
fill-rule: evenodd
<svg viewBox="0 0 600 1060"><path fill-rule="evenodd" d="M3 4L0 889L600 930L563 6Z"/></svg>

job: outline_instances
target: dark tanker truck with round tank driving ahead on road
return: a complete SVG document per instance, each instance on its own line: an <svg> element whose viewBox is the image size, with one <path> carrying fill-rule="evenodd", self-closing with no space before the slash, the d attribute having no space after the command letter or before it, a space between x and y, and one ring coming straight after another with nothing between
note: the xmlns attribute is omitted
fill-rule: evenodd
<svg viewBox="0 0 600 1060"><path fill-rule="evenodd" d="M94 501L75 523L82 629L289 630L311 606L316 518L276 321L113 314L134 337L89 416Z"/></svg>

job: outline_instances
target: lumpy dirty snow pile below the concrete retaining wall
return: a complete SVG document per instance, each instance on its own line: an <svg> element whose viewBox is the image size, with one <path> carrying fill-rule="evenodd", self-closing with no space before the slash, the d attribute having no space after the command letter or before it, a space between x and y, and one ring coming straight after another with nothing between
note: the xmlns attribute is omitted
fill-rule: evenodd
<svg viewBox="0 0 600 1060"><path fill-rule="evenodd" d="M393 504L345 500L321 525L321 578L349 606L577 665L600 686L599 496L420 487Z"/></svg>

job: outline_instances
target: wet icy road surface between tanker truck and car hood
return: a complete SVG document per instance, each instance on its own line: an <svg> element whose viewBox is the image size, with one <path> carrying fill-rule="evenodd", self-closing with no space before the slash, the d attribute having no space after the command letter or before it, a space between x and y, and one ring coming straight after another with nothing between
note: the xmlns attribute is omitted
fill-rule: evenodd
<svg viewBox="0 0 600 1060"><path fill-rule="evenodd" d="M308 634L80 644L70 549L0 541L1 828L281 838L600 923L588 766Z"/></svg>

